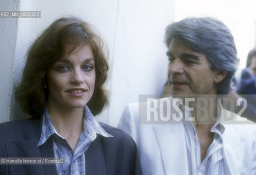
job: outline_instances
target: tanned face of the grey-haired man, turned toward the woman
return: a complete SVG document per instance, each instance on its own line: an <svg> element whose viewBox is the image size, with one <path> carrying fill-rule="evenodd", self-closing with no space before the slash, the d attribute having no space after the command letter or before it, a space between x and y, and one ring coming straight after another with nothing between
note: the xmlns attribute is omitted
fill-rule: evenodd
<svg viewBox="0 0 256 175"><path fill-rule="evenodd" d="M216 71L212 71L204 54L193 51L180 38L172 39L168 78L172 95L216 94Z"/></svg>

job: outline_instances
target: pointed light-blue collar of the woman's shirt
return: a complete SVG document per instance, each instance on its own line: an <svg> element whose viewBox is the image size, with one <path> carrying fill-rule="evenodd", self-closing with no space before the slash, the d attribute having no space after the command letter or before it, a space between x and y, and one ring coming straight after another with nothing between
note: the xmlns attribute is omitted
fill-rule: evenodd
<svg viewBox="0 0 256 175"><path fill-rule="evenodd" d="M87 136L91 141L97 137L97 134L103 137L113 137L112 135L109 135L109 133L107 133L101 125L99 125L91 113L91 110L87 106L85 106L84 110L84 131L82 133L85 136ZM42 118L42 132L37 147L40 147L43 143L45 143L47 139L53 134L63 138L52 125L52 122L49 118L48 108L46 108Z"/></svg>

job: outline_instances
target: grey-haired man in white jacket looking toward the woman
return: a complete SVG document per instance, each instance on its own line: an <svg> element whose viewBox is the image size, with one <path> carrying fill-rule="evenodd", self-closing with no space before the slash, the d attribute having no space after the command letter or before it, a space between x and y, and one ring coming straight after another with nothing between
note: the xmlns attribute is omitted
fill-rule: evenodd
<svg viewBox="0 0 256 175"><path fill-rule="evenodd" d="M170 113L161 118L163 109L148 109L163 104L164 98L132 103L119 123L137 143L143 173L256 174L256 125L241 125L240 116L223 109L218 100L229 93L236 71L230 30L209 17L187 18L166 27L165 42L172 97L164 101L170 101L165 106ZM204 112L199 99L206 104ZM162 123L144 111L160 113ZM183 114L182 119L176 114Z"/></svg>

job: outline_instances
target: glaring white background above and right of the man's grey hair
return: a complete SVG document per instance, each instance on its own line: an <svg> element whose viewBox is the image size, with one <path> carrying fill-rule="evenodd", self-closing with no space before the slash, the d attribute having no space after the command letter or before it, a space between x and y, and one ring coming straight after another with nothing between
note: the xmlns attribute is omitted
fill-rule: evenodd
<svg viewBox="0 0 256 175"><path fill-rule="evenodd" d="M179 0L175 4L175 21L187 16L212 16L230 28L235 39L240 68L246 67L249 51L256 46L255 0Z"/></svg>

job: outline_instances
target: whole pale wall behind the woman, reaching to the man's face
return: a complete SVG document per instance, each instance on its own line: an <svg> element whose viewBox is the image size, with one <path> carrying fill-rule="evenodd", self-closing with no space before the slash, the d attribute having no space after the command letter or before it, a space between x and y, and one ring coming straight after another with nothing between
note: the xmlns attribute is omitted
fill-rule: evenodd
<svg viewBox="0 0 256 175"><path fill-rule="evenodd" d="M26 50L32 41L63 15L78 16L92 24L109 46L107 89L110 91L110 106L97 116L99 121L116 126L125 105L138 101L139 94L162 92L168 64L164 28L174 20L174 0L20 0L19 10L40 10L41 18L16 19L18 29L16 27L12 36L7 34L3 39L3 44L8 40L13 43L13 50L8 51L10 55L4 54L12 61L4 62L2 67L8 68L4 69L5 75L2 72L0 75L1 80L9 83L1 83L0 87L3 89L1 93L7 94L0 101L0 122L26 116L13 98L12 84L21 78ZM2 23L3 19L0 20ZM6 33L9 21L13 19L4 20L8 21L3 28ZM0 36L2 38L3 34ZM0 50L0 53L4 51Z"/></svg>

